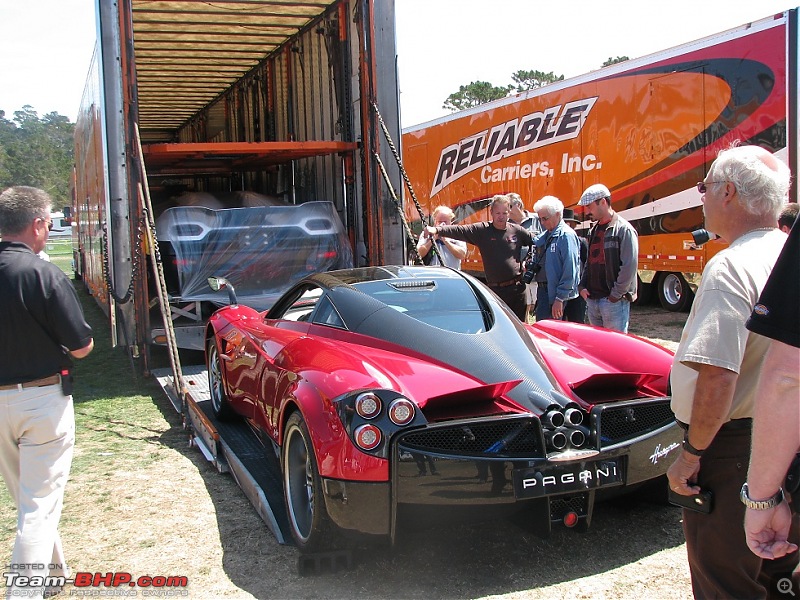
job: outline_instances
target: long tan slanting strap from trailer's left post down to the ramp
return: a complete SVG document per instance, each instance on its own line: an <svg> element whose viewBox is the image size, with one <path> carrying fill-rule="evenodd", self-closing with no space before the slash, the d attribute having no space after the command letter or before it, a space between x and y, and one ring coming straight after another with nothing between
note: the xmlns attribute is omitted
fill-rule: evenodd
<svg viewBox="0 0 800 600"><path fill-rule="evenodd" d="M186 404L186 384L183 381L183 373L181 371L181 359L178 355L178 344L175 339L175 330L172 327L172 315L169 308L169 294L167 292L167 283L164 278L164 264L161 261L161 251L158 248L158 238L156 236L156 221L153 216L153 205L150 200L150 189L147 185L147 171L144 166L144 154L142 152L142 140L139 137L139 124L134 123L134 136L136 140L136 148L138 150L138 160L136 161L139 166L140 181L144 182L138 184L139 198L142 200L142 212L144 213L144 220L147 223L147 246L150 251L150 259L153 263L153 276L156 280L156 289L158 292L158 304L161 309L161 318L164 320L164 333L167 336L167 350L169 353L169 362L172 366L173 384L175 393L181 402L183 409ZM184 410L185 413L185 410Z"/></svg>

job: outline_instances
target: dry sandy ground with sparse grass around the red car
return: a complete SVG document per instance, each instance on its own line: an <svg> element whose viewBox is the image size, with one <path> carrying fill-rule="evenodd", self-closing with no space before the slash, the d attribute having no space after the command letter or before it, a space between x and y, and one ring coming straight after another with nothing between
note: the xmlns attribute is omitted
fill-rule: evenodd
<svg viewBox="0 0 800 600"><path fill-rule="evenodd" d="M631 330L674 349L685 318L634 307ZM233 478L188 446L179 415L160 389L150 389L133 415L85 426L124 440L120 450L82 445L79 434L76 461L83 466L67 488L61 533L76 571L185 576L188 588L108 591L191 598L691 597L680 511L642 498L598 505L586 533L560 529L543 540L507 522L408 532L393 549L355 551L351 569L301 576L297 550L280 545ZM7 552L13 513L2 505ZM92 591L68 588L64 596Z"/></svg>

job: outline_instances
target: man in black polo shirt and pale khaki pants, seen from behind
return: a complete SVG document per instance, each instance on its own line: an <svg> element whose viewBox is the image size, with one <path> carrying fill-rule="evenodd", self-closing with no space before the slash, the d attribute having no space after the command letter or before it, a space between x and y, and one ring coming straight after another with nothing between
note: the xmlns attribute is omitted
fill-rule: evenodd
<svg viewBox="0 0 800 600"><path fill-rule="evenodd" d="M75 442L70 357L94 346L69 278L37 256L52 204L31 187L0 194L0 474L17 506L11 595L41 595L22 577L69 575L58 521Z"/></svg>

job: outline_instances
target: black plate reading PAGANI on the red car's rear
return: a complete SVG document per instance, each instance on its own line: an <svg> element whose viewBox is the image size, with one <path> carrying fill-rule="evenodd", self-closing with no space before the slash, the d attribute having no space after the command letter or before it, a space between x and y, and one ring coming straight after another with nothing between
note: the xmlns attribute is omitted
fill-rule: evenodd
<svg viewBox="0 0 800 600"><path fill-rule="evenodd" d="M623 467L618 458L514 469L511 477L517 499L583 492L624 483Z"/></svg>

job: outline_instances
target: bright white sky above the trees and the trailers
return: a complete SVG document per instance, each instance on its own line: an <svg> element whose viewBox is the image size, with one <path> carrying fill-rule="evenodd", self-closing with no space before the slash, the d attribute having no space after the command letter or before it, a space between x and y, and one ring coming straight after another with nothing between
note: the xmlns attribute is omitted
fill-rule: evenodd
<svg viewBox="0 0 800 600"><path fill-rule="evenodd" d="M382 0L376 0L382 1ZM471 81L520 69L573 77L793 8L800 0L395 0L402 126L448 114ZM75 121L94 49L94 0L0 1L0 110Z"/></svg>

